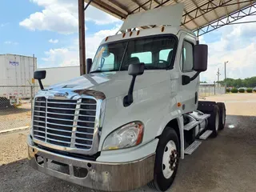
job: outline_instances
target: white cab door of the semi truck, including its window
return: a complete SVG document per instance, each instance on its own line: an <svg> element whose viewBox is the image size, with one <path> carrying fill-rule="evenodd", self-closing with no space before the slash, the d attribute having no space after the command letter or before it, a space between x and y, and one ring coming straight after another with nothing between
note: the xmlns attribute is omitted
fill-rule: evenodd
<svg viewBox="0 0 256 192"><path fill-rule="evenodd" d="M192 78L196 72L193 70L194 65L194 45L196 40L190 34L182 33L180 36L180 55L179 55L179 68L180 68L180 91L182 98L183 114L197 109L198 106L198 79L194 79L186 85L182 85L182 75Z"/></svg>

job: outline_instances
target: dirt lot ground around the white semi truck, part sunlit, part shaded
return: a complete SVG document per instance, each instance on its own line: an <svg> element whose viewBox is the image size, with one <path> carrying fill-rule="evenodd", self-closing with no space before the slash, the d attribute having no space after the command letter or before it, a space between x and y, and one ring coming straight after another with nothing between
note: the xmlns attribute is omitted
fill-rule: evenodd
<svg viewBox="0 0 256 192"><path fill-rule="evenodd" d="M207 139L182 160L170 191L255 191L256 95L227 94L207 100L226 102L226 127L218 138ZM26 161L26 134L0 136L0 191L91 191L31 169Z"/></svg>

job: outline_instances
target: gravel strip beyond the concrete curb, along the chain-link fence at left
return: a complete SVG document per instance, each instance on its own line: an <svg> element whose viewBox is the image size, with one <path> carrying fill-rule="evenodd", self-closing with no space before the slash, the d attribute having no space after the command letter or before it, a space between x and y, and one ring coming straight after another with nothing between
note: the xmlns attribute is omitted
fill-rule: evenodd
<svg viewBox="0 0 256 192"><path fill-rule="evenodd" d="M0 130L29 126L31 121L30 109L30 103L24 103L22 106L11 106L6 109L0 109Z"/></svg>

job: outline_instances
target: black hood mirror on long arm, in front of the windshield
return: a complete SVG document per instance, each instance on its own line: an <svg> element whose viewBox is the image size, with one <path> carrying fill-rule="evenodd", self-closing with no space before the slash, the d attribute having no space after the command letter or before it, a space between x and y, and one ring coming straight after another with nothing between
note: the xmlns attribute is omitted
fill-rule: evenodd
<svg viewBox="0 0 256 192"><path fill-rule="evenodd" d="M128 74L132 75L133 78L130 82L130 87L128 90L128 94L123 98L123 106L130 106L134 102L133 93L134 93L134 84L137 75L144 74L145 64L143 62L130 64L128 68Z"/></svg>

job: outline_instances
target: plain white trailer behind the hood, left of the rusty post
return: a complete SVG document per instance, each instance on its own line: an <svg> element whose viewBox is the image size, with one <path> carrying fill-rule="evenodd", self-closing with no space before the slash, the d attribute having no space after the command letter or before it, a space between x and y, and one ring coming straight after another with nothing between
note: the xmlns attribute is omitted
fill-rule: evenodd
<svg viewBox="0 0 256 192"><path fill-rule="evenodd" d="M42 80L43 86L51 86L80 76L80 66L60 66L38 70L46 70L46 78Z"/></svg>

